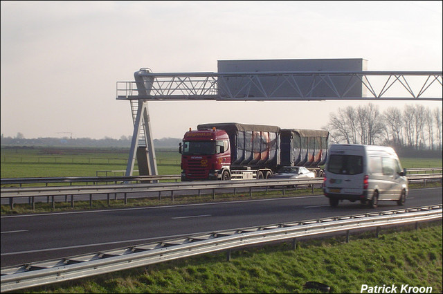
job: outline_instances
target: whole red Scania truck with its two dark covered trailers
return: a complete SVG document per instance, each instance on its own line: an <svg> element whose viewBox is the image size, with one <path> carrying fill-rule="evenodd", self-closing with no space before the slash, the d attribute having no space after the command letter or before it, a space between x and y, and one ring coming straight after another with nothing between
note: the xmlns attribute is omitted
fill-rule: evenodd
<svg viewBox="0 0 443 294"><path fill-rule="evenodd" d="M323 177L329 133L237 122L189 129L179 144L181 181L269 178L283 166Z"/></svg>

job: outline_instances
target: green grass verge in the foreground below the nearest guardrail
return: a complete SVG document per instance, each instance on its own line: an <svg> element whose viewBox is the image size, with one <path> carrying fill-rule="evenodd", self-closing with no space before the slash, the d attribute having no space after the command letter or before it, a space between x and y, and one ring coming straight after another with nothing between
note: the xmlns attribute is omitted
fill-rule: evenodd
<svg viewBox="0 0 443 294"><path fill-rule="evenodd" d="M410 228L410 227L406 227ZM383 229L329 239L241 248L226 261L224 252L168 261L21 293L319 293L308 281L332 293L360 293L361 285L431 286L442 293L442 223L419 230Z"/></svg>

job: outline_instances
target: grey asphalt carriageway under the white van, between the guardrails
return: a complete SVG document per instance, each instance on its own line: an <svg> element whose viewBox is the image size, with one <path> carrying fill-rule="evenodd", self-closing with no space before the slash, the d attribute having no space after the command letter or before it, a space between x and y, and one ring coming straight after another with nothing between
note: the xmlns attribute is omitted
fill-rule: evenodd
<svg viewBox="0 0 443 294"><path fill-rule="evenodd" d="M87 210L1 217L1 268L91 252L308 219L442 204L442 188L410 190L404 207L380 201L377 209L323 195L150 208Z"/></svg>

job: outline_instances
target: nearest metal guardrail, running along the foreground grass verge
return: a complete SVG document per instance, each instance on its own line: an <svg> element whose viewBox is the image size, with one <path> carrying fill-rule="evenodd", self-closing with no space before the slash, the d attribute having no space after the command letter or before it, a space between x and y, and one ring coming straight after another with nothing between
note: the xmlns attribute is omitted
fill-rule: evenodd
<svg viewBox="0 0 443 294"><path fill-rule="evenodd" d="M233 248L290 239L295 244L298 237L331 232L346 231L347 241L349 241L350 230L377 228L378 235L379 228L382 226L418 223L419 221L436 219L442 219L442 205L297 221L296 223L280 223L195 235L155 244L130 246L107 252L3 268L1 269L1 292L111 273L117 270L147 266L220 250L228 250L227 257L229 259L230 250Z"/></svg>

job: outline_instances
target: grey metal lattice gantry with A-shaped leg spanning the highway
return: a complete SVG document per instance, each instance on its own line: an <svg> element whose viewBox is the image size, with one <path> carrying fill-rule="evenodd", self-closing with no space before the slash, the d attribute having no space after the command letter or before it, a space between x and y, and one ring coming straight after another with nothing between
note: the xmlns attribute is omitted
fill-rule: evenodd
<svg viewBox="0 0 443 294"><path fill-rule="evenodd" d="M145 174L157 174L148 101L423 101L442 100L443 86L441 71L152 73L141 68L134 77L117 82L117 99L131 102L134 119L127 176L136 157L139 171L143 165Z"/></svg>

